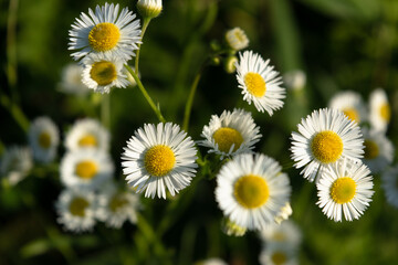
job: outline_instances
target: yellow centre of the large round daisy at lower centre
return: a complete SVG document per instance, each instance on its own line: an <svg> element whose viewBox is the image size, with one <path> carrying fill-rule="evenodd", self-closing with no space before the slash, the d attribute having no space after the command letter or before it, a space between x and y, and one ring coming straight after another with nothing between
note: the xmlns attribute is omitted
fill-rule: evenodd
<svg viewBox="0 0 398 265"><path fill-rule="evenodd" d="M270 197L265 180L255 174L247 174L237 180L233 195L243 208L254 209L263 205Z"/></svg>

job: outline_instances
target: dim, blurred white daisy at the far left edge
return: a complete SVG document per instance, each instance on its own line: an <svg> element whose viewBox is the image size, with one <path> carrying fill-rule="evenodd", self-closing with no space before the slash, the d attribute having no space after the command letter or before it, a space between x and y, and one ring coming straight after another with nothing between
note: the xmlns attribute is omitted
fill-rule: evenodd
<svg viewBox="0 0 398 265"><path fill-rule="evenodd" d="M23 180L33 167L30 148L12 146L1 157L0 172L9 184L15 186Z"/></svg>

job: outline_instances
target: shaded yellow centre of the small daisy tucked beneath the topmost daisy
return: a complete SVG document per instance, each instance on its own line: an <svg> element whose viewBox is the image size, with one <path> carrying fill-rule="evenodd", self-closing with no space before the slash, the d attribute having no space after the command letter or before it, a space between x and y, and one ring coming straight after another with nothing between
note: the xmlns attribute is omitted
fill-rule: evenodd
<svg viewBox="0 0 398 265"><path fill-rule="evenodd" d="M112 62L101 61L92 65L90 76L98 85L105 86L116 80L117 72Z"/></svg>

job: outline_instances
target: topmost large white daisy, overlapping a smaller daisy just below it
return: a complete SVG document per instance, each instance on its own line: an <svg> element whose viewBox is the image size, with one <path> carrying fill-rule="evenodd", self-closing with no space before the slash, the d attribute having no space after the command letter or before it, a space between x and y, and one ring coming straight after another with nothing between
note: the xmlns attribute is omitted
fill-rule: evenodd
<svg viewBox="0 0 398 265"><path fill-rule="evenodd" d="M95 13L88 9L90 17L81 13L69 32L69 50L78 50L71 54L74 60L90 53L112 54L123 61L134 56L140 43L139 20L127 8L118 11L118 4L105 3L96 6Z"/></svg>

